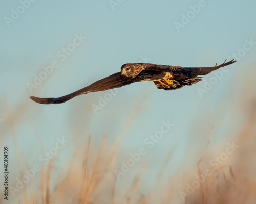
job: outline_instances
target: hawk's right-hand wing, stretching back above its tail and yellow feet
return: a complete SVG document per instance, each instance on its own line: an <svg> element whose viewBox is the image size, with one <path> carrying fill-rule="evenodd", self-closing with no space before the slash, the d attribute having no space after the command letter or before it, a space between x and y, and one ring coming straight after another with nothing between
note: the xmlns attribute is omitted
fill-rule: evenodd
<svg viewBox="0 0 256 204"><path fill-rule="evenodd" d="M145 70L165 71L173 74L184 75L189 78L195 78L200 75L206 75L211 71L225 67L227 65L235 63L236 60L225 62L219 66L217 64L214 67L179 67L179 66L168 66L168 65L148 65Z"/></svg>

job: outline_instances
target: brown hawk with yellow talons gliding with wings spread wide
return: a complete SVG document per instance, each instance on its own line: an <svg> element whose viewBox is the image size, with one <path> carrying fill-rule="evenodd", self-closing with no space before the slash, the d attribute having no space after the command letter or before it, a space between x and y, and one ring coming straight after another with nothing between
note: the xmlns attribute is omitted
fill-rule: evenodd
<svg viewBox="0 0 256 204"><path fill-rule="evenodd" d="M174 90L186 85L192 85L201 81L201 76L221 67L235 63L236 60L225 62L214 67L180 67L158 65L150 63L128 63L121 67L121 71L103 78L78 91L58 98L30 98L39 104L61 104L75 96L97 91L105 91L134 82L153 81L158 89Z"/></svg>

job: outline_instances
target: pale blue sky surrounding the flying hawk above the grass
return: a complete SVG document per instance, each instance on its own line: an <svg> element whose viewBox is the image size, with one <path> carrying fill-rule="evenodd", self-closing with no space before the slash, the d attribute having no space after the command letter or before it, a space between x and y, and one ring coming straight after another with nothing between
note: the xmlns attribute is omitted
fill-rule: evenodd
<svg viewBox="0 0 256 204"><path fill-rule="evenodd" d="M145 147L144 139L159 131L162 121L169 120L174 124L172 130L148 150L141 162L150 163L150 173L159 170L157 166L163 163L173 146L176 146L173 162L178 165L172 170L179 170L188 160L189 150L201 152L204 149L212 126L212 142L232 134L234 125L239 122L232 115L235 107L229 104L231 99L239 97L233 78L255 59L255 45L234 66L230 66L203 97L198 94L198 88L204 88L212 73L198 84L175 91L157 90L153 82L126 86L118 90L118 94L96 115L91 105L97 104L105 92L82 95L62 105L39 105L29 99L31 95L66 95L120 71L124 63L139 62L141 56L155 64L213 66L237 53L246 39L256 41L254 1L205 1L200 12L178 32L175 21L181 22L182 14L186 15L191 11L190 6L199 2L124 0L113 10L109 1L37 0L10 22L9 27L5 16L11 17L12 9L16 10L20 2L2 3L1 99L6 94L12 113L20 104L29 107L19 109L23 118L16 125L22 157L28 158L33 152L34 159L37 159L41 154L41 151L37 152L40 145L36 135L41 138L45 149L51 148L57 137L69 138L71 134L78 138L77 141L71 140L71 147L89 134L95 143L101 141L101 133L109 137L109 142L113 141L136 101L145 97L144 91L149 97L145 97L143 108L137 112L131 129L127 131L122 144L124 154ZM87 38L65 61L61 61L56 53L72 43L75 34ZM52 60L56 60L59 66L30 93L26 84L32 83L33 75L43 71L42 66L49 65ZM5 119L3 125L8 126L6 108L3 108L3 103L1 106L4 112L0 118ZM228 111L223 107L229 107ZM220 110L221 113L216 113ZM13 146L11 132L5 134L4 144ZM72 148L67 149L67 154L68 151ZM28 161L33 165L33 160Z"/></svg>

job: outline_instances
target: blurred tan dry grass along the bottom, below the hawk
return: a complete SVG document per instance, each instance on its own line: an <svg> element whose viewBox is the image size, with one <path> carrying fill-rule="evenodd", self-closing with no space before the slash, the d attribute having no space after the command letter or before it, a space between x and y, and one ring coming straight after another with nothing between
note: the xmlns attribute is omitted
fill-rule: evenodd
<svg viewBox="0 0 256 204"><path fill-rule="evenodd" d="M14 141L16 141L12 117L10 113L8 115L13 129ZM253 170L253 165L255 165L253 155L255 155L256 150L254 148L255 143L251 142L256 139L255 124L256 113L254 110L254 112L251 111L250 117L242 125L238 135L233 138L239 142L240 148L232 155L231 165L223 165L218 168L209 166L208 159L204 158L206 153L209 153L209 136L208 144L197 164L198 175L202 174L203 169L210 169L208 177L204 182L200 182L200 188L186 197L185 201L180 199L179 203L242 204L253 203L253 200L256 200L256 173L255 169ZM140 175L146 168L143 165L130 184L124 179L124 185L118 187L114 167L119 148L116 144L106 147L106 140L106 136L103 135L99 149L95 150L91 144L91 137L87 137L83 150L76 149L74 151L68 168L58 173L58 180L54 184L52 182L54 160L51 160L41 170L39 190L38 186L35 186L34 192L28 193L28 188L25 186L22 194L19 194L19 203L176 203L175 200L177 200L179 191L185 192L186 182L182 181L182 178L180 181L183 183L183 189L176 188L172 182L162 185L161 189L155 188L166 170L166 165L172 158L173 150L167 155L154 185L147 194L140 193ZM16 157L20 161L18 149ZM20 177L22 177L23 168L22 165L19 166ZM199 178L201 177L199 176ZM172 178L169 177L168 180L172 181Z"/></svg>

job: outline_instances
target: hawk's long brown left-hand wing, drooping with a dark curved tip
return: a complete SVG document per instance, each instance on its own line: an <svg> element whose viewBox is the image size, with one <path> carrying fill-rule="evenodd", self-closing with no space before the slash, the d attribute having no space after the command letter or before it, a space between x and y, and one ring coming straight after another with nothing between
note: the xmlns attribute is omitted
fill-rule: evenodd
<svg viewBox="0 0 256 204"><path fill-rule="evenodd" d="M121 72L114 73L110 75L109 77L103 78L97 82L94 82L93 84L84 87L78 91L75 91L73 93L70 93L68 95L59 97L59 98L37 98L34 96L31 96L30 98L39 104L61 104L66 102L67 100L70 100L71 98L74 98L75 96L87 94L91 92L97 92L97 91L105 91L110 90L118 87L122 87L128 84L131 84L133 82L127 81L122 78Z"/></svg>

